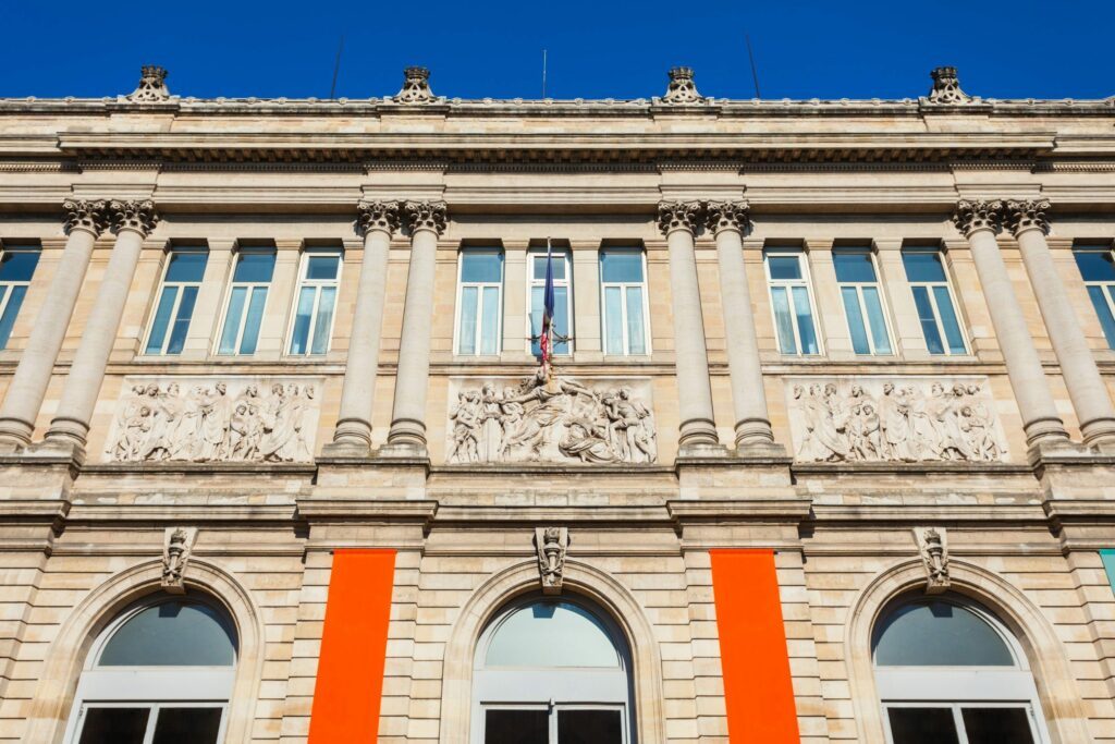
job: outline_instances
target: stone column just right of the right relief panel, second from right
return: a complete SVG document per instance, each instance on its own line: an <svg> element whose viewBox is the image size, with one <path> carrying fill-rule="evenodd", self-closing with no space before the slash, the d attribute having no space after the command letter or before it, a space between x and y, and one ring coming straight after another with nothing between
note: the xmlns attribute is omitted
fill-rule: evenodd
<svg viewBox="0 0 1115 744"><path fill-rule="evenodd" d="M1018 305L1010 276L995 239L1002 219L1002 202L968 201L957 203L952 220L968 238L972 262L979 276L991 325L1002 350L1010 386L1022 416L1026 443L1032 448L1044 444L1067 444L1068 433L1057 414L1041 359Z"/></svg>

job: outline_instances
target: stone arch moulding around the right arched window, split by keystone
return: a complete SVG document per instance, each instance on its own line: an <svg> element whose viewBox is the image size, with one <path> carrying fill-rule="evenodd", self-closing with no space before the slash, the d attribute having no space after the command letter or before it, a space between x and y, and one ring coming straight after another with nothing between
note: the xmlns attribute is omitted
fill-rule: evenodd
<svg viewBox="0 0 1115 744"><path fill-rule="evenodd" d="M952 591L993 612L1022 647L1053 741L1092 741L1068 653L1041 610L1016 587L975 563L949 559L949 577ZM844 626L844 658L862 742L885 741L871 660L872 630L891 600L924 583L925 569L920 559L901 561L878 574L852 606Z"/></svg>

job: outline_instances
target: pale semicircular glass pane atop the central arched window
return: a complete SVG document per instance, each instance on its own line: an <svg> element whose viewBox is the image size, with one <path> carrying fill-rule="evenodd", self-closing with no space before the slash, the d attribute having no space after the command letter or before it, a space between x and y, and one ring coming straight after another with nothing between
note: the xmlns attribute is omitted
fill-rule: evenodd
<svg viewBox="0 0 1115 744"><path fill-rule="evenodd" d="M545 638L545 642L539 642ZM539 600L512 612L496 629L484 659L489 667L620 666L603 624L579 605Z"/></svg>

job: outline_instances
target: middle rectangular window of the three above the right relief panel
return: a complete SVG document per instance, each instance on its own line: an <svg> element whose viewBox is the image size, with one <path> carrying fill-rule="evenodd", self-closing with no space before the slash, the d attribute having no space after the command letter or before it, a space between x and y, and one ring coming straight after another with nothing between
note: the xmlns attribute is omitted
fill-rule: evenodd
<svg viewBox="0 0 1115 744"><path fill-rule="evenodd" d="M891 335L871 249L837 249L833 251L833 264L852 349L864 355L891 354Z"/></svg>

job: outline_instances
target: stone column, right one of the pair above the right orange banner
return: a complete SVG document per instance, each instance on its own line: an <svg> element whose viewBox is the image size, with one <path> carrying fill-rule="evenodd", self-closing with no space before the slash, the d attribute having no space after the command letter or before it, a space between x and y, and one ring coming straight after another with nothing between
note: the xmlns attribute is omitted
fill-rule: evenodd
<svg viewBox="0 0 1115 744"><path fill-rule="evenodd" d="M752 292L744 269L744 232L750 224L747 212L747 202L709 202L707 213L720 264L720 301L736 415L736 450L741 454L774 444Z"/></svg>

